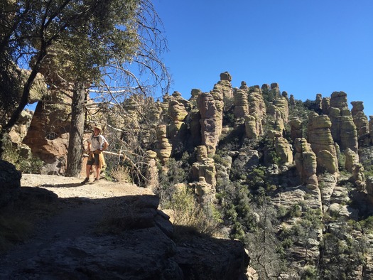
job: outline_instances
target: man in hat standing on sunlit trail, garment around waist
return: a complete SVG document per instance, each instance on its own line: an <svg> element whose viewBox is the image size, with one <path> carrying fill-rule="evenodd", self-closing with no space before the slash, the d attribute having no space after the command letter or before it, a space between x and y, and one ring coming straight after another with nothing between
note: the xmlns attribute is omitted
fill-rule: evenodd
<svg viewBox="0 0 373 280"><path fill-rule="evenodd" d="M107 139L105 139L104 136L101 135L101 132L102 129L100 126L94 126L92 136L87 139L87 150L90 156L87 160L86 178L85 181L82 181L82 185L90 181L90 172L92 165L96 166L96 178L94 178L93 183L97 183L99 181L99 173L101 172L102 166L105 165L104 154L102 154L102 151L105 151L107 149L107 146L109 146L109 142L107 141Z"/></svg>

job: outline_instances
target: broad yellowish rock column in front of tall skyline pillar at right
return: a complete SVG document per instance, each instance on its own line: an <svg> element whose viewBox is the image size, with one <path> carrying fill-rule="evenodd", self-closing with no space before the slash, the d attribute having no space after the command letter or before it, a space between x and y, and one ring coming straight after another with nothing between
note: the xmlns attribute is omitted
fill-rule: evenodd
<svg viewBox="0 0 373 280"><path fill-rule="evenodd" d="M318 171L333 174L338 171L337 151L330 133L331 122L328 116L311 112L308 115L308 142L315 152Z"/></svg>

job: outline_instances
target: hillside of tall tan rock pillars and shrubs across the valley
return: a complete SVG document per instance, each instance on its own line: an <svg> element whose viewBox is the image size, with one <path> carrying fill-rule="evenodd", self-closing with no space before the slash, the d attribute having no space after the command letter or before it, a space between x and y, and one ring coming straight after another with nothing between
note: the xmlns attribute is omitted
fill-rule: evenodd
<svg viewBox="0 0 373 280"><path fill-rule="evenodd" d="M301 102L288 99L277 83L232 88L228 72L210 92L191 95L186 100L174 92L154 102L151 122L141 119L145 110L132 114L141 121L131 127L146 135L141 148L152 188L162 187L170 163L183 166L180 181L202 205L221 211L227 235L245 242L252 259L266 254L279 270L279 259L291 264L282 272L275 264L252 264L261 276L266 270L282 276L318 270L328 278L333 270L346 279L369 279L373 247L364 241L370 230L362 227L373 213L367 176L373 117L368 122L362 102L351 102L350 111L345 92ZM357 252L350 238L369 249ZM333 257L338 244L346 245ZM347 261L354 264L347 267Z"/></svg>

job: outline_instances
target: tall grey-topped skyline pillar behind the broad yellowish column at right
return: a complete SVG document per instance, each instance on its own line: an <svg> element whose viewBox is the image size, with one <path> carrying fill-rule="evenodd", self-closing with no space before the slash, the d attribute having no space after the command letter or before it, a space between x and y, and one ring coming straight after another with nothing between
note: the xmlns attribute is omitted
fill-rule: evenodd
<svg viewBox="0 0 373 280"><path fill-rule="evenodd" d="M333 92L330 97L329 109L330 131L334 141L340 145L340 149L350 148L357 153L357 129L347 105L345 92Z"/></svg>

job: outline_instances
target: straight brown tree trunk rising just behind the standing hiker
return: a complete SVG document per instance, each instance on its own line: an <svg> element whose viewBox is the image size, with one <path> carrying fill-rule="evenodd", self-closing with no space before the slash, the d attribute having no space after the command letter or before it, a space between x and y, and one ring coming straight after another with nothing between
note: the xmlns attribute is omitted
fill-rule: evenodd
<svg viewBox="0 0 373 280"><path fill-rule="evenodd" d="M82 170L83 133L85 122L85 87L83 82L75 82L71 104L71 125L69 147L67 149L67 177L79 177Z"/></svg>

